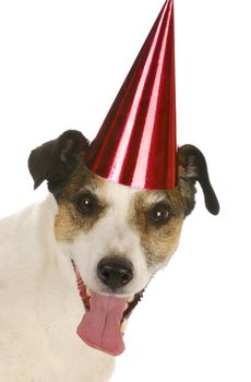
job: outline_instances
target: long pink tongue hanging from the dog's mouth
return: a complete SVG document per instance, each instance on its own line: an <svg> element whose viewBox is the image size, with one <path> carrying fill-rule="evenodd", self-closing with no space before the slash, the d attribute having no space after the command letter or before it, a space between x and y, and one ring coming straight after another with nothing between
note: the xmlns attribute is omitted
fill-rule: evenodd
<svg viewBox="0 0 251 382"><path fill-rule="evenodd" d="M92 293L91 309L77 327L79 336L95 349L119 356L124 350L120 331L127 299Z"/></svg>

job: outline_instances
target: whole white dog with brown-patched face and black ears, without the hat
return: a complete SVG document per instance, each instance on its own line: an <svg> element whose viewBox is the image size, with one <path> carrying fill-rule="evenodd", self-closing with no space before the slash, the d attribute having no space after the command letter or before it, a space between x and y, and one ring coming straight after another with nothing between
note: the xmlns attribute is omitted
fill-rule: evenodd
<svg viewBox="0 0 251 382"><path fill-rule="evenodd" d="M107 382L132 310L176 251L195 183L219 205L203 154L178 150L174 190L136 190L85 167L69 130L28 158L48 198L0 222L0 381Z"/></svg>

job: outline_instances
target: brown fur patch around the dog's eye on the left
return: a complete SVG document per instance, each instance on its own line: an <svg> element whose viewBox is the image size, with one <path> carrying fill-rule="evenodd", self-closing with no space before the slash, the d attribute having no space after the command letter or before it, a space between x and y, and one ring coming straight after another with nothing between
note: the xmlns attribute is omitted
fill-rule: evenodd
<svg viewBox="0 0 251 382"><path fill-rule="evenodd" d="M105 180L80 166L71 176L58 201L55 219L55 236L58 241L73 241L82 232L88 232L95 223L105 215L107 203L101 189ZM98 208L92 216L84 216L76 208L77 198L88 191L97 196Z"/></svg>

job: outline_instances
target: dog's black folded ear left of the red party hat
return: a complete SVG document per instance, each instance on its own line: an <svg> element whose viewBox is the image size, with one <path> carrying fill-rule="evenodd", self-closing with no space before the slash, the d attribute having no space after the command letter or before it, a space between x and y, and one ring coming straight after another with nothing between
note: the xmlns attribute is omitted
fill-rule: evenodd
<svg viewBox="0 0 251 382"><path fill-rule="evenodd" d="M69 179L88 150L89 142L76 130L68 130L57 140L44 143L32 151L28 158L28 169L34 179L34 189L44 180L52 192Z"/></svg>

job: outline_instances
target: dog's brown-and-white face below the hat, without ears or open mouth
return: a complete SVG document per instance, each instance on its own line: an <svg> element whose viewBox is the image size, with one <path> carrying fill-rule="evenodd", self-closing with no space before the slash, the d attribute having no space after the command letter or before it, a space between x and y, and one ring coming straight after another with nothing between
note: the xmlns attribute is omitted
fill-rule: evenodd
<svg viewBox="0 0 251 382"><path fill-rule="evenodd" d="M133 296L175 252L183 216L178 189L138 191L81 166L59 199L55 234L88 288ZM118 285L115 279L109 284L101 275L101 262L104 273L106 264L124 264L124 284L119 279Z"/></svg>

